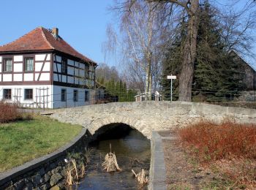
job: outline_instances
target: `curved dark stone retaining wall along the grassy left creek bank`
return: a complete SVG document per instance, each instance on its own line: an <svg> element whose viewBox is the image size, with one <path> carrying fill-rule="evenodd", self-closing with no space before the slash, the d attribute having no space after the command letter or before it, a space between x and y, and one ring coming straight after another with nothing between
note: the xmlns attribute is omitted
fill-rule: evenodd
<svg viewBox="0 0 256 190"><path fill-rule="evenodd" d="M0 189L50 189L64 187L68 153L85 151L86 129L59 150L0 174Z"/></svg>

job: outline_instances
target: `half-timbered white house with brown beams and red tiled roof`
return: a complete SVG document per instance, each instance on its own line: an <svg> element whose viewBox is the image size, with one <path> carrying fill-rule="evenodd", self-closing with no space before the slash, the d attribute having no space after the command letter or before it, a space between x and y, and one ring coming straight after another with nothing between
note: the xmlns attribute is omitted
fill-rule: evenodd
<svg viewBox="0 0 256 190"><path fill-rule="evenodd" d="M35 28L0 46L0 100L48 108L90 104L96 66L58 28Z"/></svg>

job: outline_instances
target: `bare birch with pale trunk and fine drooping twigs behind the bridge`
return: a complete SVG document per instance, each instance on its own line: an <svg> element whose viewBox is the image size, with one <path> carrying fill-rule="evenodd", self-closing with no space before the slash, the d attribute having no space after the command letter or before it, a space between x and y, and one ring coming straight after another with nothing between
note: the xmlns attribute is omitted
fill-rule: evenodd
<svg viewBox="0 0 256 190"><path fill-rule="evenodd" d="M160 46L163 28L159 25L159 15L155 3L140 0L124 1L116 9L121 18L121 39L117 39L113 29L108 27L108 42L105 49L113 53L114 47L121 48L122 64L126 65L129 80L140 84L140 90L151 94L152 84L159 78ZM156 83L153 84L156 86ZM150 98L150 96L148 96Z"/></svg>

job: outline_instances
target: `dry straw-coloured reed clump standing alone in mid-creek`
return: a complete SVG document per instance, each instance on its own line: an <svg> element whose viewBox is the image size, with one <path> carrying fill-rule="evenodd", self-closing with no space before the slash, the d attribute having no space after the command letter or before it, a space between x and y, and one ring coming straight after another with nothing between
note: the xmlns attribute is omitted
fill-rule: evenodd
<svg viewBox="0 0 256 190"><path fill-rule="evenodd" d="M107 153L105 156L105 161L102 163L103 170L107 172L116 172L121 171L121 168L117 164L116 154L111 153L111 144L110 144L110 153Z"/></svg>

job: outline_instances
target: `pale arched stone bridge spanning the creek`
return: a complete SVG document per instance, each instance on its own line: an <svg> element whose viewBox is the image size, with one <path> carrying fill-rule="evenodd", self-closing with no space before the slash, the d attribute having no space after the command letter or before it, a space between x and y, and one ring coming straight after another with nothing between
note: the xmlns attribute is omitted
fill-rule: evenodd
<svg viewBox="0 0 256 190"><path fill-rule="evenodd" d="M174 129L200 118L218 122L228 117L240 123L256 123L256 110L192 102L117 102L50 112L53 113L52 118L80 124L91 134L111 123L125 123L148 139L152 131Z"/></svg>

